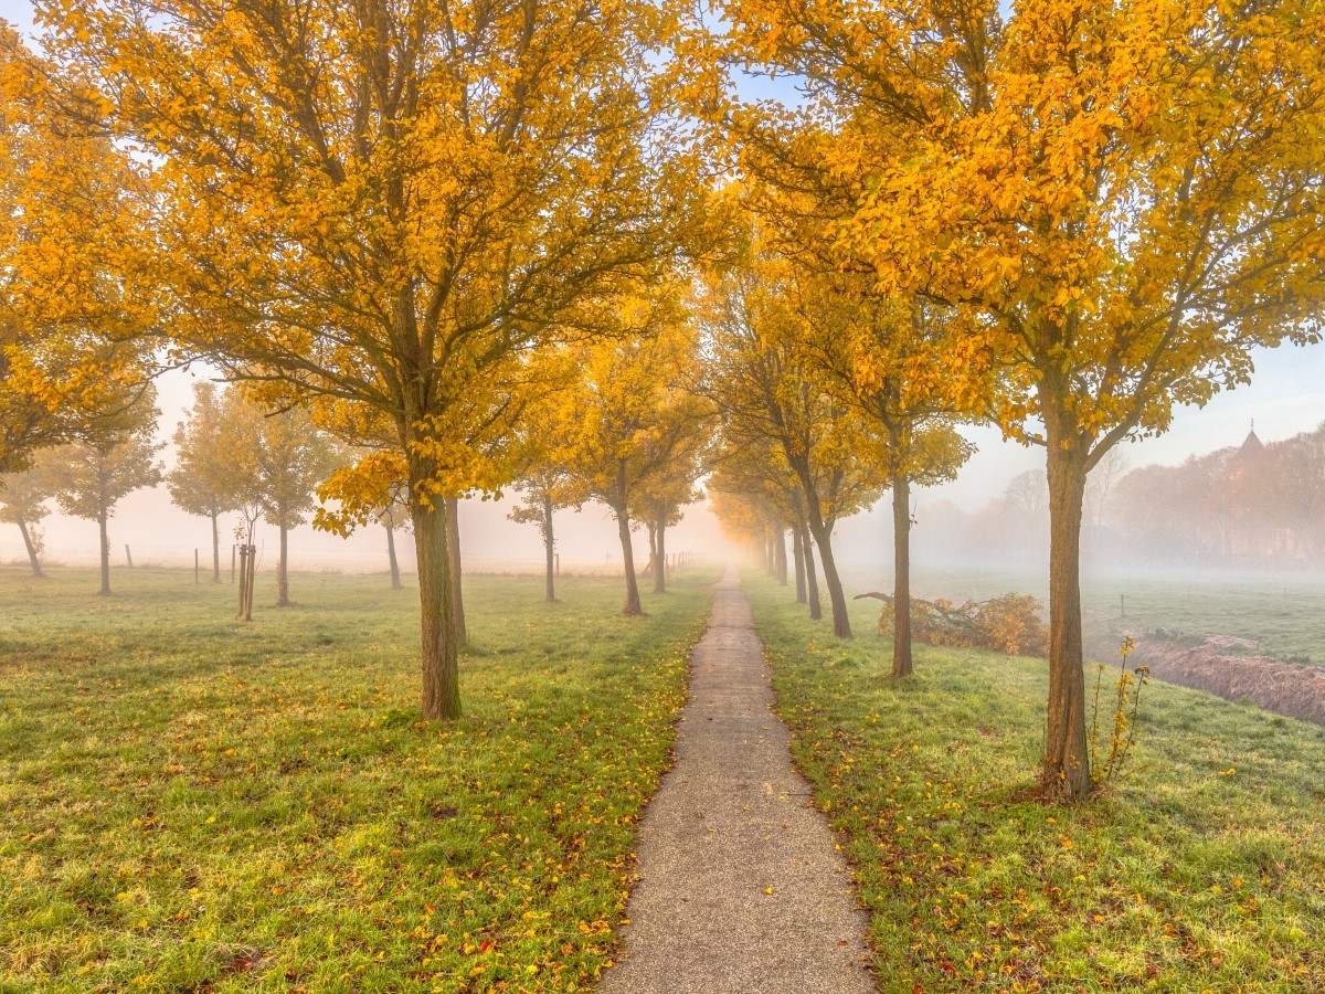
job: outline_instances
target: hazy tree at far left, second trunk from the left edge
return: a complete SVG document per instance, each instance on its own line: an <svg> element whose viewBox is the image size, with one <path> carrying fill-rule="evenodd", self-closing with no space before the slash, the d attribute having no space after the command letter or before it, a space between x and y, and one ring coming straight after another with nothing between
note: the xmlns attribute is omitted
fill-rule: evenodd
<svg viewBox="0 0 1325 994"><path fill-rule="evenodd" d="M134 490L162 481L156 453L156 391L148 387L114 417L99 417L86 440L44 449L40 472L65 514L97 522L101 538L101 594L110 595L109 521L115 505Z"/></svg>

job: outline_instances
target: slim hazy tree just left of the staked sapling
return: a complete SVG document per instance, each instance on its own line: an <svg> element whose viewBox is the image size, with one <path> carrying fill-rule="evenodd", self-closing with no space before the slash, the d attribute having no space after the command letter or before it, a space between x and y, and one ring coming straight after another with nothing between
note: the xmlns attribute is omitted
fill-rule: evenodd
<svg viewBox="0 0 1325 994"><path fill-rule="evenodd" d="M220 517L235 510L235 453L223 447L225 398L215 383L193 384L193 407L175 428L175 467L166 473L171 500L212 522L212 583L221 582Z"/></svg>

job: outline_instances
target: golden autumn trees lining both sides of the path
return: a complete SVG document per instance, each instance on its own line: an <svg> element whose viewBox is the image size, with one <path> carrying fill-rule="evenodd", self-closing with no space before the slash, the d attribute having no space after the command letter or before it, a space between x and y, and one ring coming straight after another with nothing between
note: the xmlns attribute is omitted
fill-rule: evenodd
<svg viewBox="0 0 1325 994"><path fill-rule="evenodd" d="M0 472L162 364L303 412L350 456L315 525L408 509L433 720L460 496L519 481L549 542L596 497L657 562L704 467L818 554L848 637L832 526L890 489L901 677L908 493L992 423L1045 451L1043 786L1081 797L1086 474L1320 337L1325 9L717 13L68 0L41 54L0 29ZM806 85L751 102L742 72Z"/></svg>

